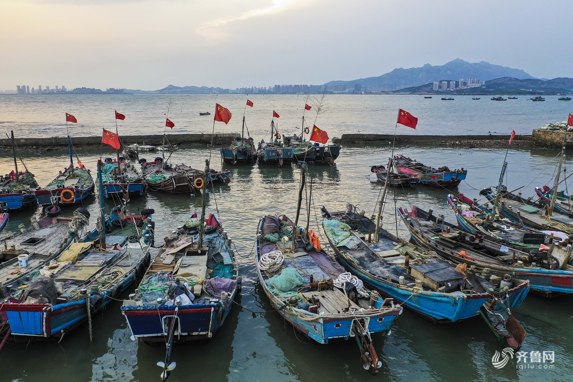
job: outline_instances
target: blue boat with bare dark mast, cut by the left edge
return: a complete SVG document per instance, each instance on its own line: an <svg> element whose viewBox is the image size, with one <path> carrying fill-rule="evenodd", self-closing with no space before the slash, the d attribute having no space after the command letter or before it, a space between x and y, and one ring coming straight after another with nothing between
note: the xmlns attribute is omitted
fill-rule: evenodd
<svg viewBox="0 0 573 382"><path fill-rule="evenodd" d="M16 143L14 131L11 131L12 155L14 170L5 176L0 176L0 206L4 211L15 212L36 204L35 190L39 187L34 174L30 173L22 162L25 171L18 170L16 160Z"/></svg>

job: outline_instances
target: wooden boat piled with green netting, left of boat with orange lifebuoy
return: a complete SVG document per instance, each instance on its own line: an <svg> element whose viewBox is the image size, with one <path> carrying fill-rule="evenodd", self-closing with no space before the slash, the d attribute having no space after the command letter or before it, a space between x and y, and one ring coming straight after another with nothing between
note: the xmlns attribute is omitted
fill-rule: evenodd
<svg viewBox="0 0 573 382"><path fill-rule="evenodd" d="M170 165L163 165L163 158L157 157L153 162L139 159L142 166L143 180L151 191L163 191L173 194L191 192L193 185L187 174Z"/></svg>

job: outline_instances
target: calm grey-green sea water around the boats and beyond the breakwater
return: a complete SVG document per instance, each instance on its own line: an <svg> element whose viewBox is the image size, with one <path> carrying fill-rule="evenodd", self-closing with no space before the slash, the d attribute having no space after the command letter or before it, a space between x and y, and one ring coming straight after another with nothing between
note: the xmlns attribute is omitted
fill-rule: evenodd
<svg viewBox="0 0 573 382"><path fill-rule="evenodd" d="M147 97L147 96L146 96ZM151 99L158 100L159 97ZM205 96L210 97L210 96ZM213 96L214 97L214 96ZM279 96L280 97L280 96ZM291 100L296 96L289 96ZM346 96L340 96L343 99ZM177 102L182 99L192 99L193 96L174 97ZM250 96L249 96L250 98ZM373 98L358 97L365 102L372 102ZM13 98L14 102L20 102ZM24 98L22 98L24 99ZM126 98L116 98L125 102L134 102L129 96ZM227 99L227 98L225 98ZM230 99L230 98L229 98ZM256 100L262 100L256 98ZM265 97L271 99L270 97ZM286 99L286 96L285 96ZM332 96L332 103L335 97ZM346 99L350 100L350 97ZM383 100L383 98L380 98ZM407 97L395 97L395 99L408 99ZM551 98L541 103L548 107L551 105ZM0 102L6 102L6 98L0 97ZM36 101L48 100L48 98L36 98ZM423 99L422 99L423 101ZM422 101L418 100L418 103ZM434 102L434 99L430 100ZM521 102L521 100L517 100ZM26 100L25 102L32 102ZM14 128L21 129L21 135L42 134L45 136L64 135L65 130L46 132L45 130L33 130L30 127L30 120L38 121L50 120L45 113L46 110L56 110L64 112L64 105L58 104L58 99L53 98L48 106L38 106L22 108L18 106L15 112L14 104L10 106L10 112L2 108L0 121L5 121L5 130ZM68 98L68 102L76 102L75 98ZM99 132L102 124L96 123L96 112L105 108L117 108L111 102L111 98L98 98L98 105L84 104L85 110L93 114L93 126L84 125L85 131ZM146 101L147 102L147 101ZM291 102L291 101L289 101ZM389 108L397 108L398 100L389 98L384 102L392 103ZM457 100L456 100L457 102ZM241 100L242 103L242 100ZM291 103L291 105L294 102ZM417 103L417 104L418 104ZM491 108L505 107L498 106L501 103L487 103ZM508 104L509 101L503 103ZM556 103L556 102L555 102ZM342 101L332 113L344 114L348 120L361 120L362 116L344 113L339 110ZM354 100L352 104L357 108ZM472 105L471 103L468 103ZM51 106L50 106L51 105ZM413 103L414 105L414 103ZM436 107L445 107L435 103ZM517 104L520 105L520 104ZM532 107L536 104L525 104L520 107ZM557 104L560 105L560 104ZM183 105L182 105L183 106ZM158 104L158 109L160 106ZM378 106L380 107L380 106ZM469 106L468 106L469 107ZM557 106L556 106L557 107ZM559 106L562 107L562 106ZM406 107L405 107L406 108ZM422 108L422 106L420 106ZM429 106L423 108L427 115L433 115L435 120L439 119L440 113L444 110L430 110ZM562 107L563 108L563 107ZM22 116L26 110L30 110L29 116ZM43 110L43 111L42 111ZM72 112L72 110L68 110ZM138 110L148 110L146 105L140 105ZM180 109L186 110L186 109ZM270 109L272 110L272 109ZM460 115L470 113L466 108ZM555 109L554 109L555 110ZM50 111L51 112L51 111ZM495 114L486 109L481 110L485 116L472 120L473 126L477 130L464 130L466 133L477 134L482 132L479 129L488 129L500 132L501 122L508 122L503 119L502 114ZM554 111L555 112L555 111ZM194 114L195 112L193 112ZM555 118L547 111L536 114L533 111L525 116L520 116L524 123L535 123L543 125L547 122L563 120ZM544 114L545 113L545 114ZM6 114L9 114L8 118ZM72 112L74 114L74 112ZM104 113L107 118L107 112ZM128 114L125 112L125 114ZM238 113L237 113L238 114ZM286 114L286 113L285 113ZM414 114L414 112L413 112ZM421 114L421 113L418 113ZM563 114L563 113L562 113ZM80 120L81 112L77 112L76 117ZM190 114L189 114L190 115ZM327 119L329 113L324 114ZM348 116L350 115L350 116ZM387 120L388 126L394 120L393 111L383 111L379 119ZM28 120L28 122L17 122L18 118ZM103 117L101 117L103 118ZM159 120L164 118L155 118ZM193 117L194 118L194 117ZM281 115L282 118L282 115ZM323 116L319 116L323 118ZM328 117L332 121L332 126L337 126L336 131L342 132L342 123L335 122L337 118ZM448 118L453 115L448 114ZM464 117L466 122L471 118ZM502 119L500 119L502 118ZM110 118L111 119L111 118ZM175 119L175 118L174 118ZM444 118L446 119L446 118ZM497 119L497 120L496 120ZM240 122L240 118L237 118ZM340 119L339 119L340 120ZM532 121L533 120L533 121ZM539 122L536 122L539 120ZM10 122L12 121L12 122ZM127 121L127 119L126 119ZM366 121L366 122L364 122ZM500 122L501 121L501 122ZM371 115L363 121L364 128L373 131L376 126L376 115ZM19 123L17 125L17 123ZM109 126L113 123L104 124ZM193 120L189 118L189 128L193 128ZM421 120L421 123L423 121ZM456 122L458 123L458 122ZM161 126L159 123L155 123ZM205 129L210 126L205 122ZM20 126L20 127L16 127ZM130 125L131 126L131 125ZM150 126L144 128L149 133ZM237 125L240 127L240 124ZM234 126L230 131L236 131ZM456 125L458 126L458 125ZM491 127L490 127L491 126ZM493 127L495 126L495 127ZM61 129L61 126L58 127ZM130 133L136 130L133 124ZM261 126L261 129L266 126ZM392 129L393 130L393 125ZM442 128L442 127L440 127ZM509 127L509 131L513 127ZM530 129L530 127L527 127ZM65 126L64 126L65 129ZM352 124L353 131L358 130ZM448 134L451 127L443 127L441 133ZM499 129L499 130L498 130ZM80 130L80 127L77 127ZM388 131L391 131L388 130ZM406 130L404 128L403 130ZM410 129L407 129L410 130ZM190 130L197 131L197 130ZM262 131L262 130L261 130ZM413 131L413 130L411 130ZM516 128L517 131L517 128ZM26 134L24 134L26 132ZM82 130L84 132L84 130ZM519 132L519 131L518 131ZM526 131L521 131L525 133ZM437 132L438 133L438 132ZM431 132L426 132L431 134ZM88 135L88 134L77 134ZM332 136L332 135L331 135ZM313 200L311 205L311 227L317 228L320 223L320 205L324 204L330 210L343 209L347 202L358 204L368 212L375 209L375 201L379 197L382 184L373 182L370 166L386 162L391 153L391 148L384 146L346 146L343 148L335 166L309 165L309 174L313 178ZM494 185L499 177L501 162L503 161L505 150L497 149L464 149L460 147L397 147L396 153L407 154L417 158L427 164L442 166L448 165L450 168L464 167L468 169L468 179L462 182L457 188L451 190L436 188L418 189L397 189L392 190L388 196L388 205L384 215L385 226L388 230L398 229L399 236L407 238L407 231L403 224L395 225L394 200L399 206L419 205L423 208L433 208L435 213L444 213L446 219L454 221L453 214L450 213L449 206L445 200L449 192L463 192L469 197L478 198L478 190L486 186ZM95 170L96 161L100 155L103 157L112 156L111 150L79 151L77 153L81 161ZM185 162L196 168L205 166L205 158L209 157L209 149L205 147L185 147L176 151L172 155L172 163ZM519 186L526 186L521 189L525 196L533 195L533 186L541 186L550 182L556 167L557 151L554 150L509 150L508 154L508 189ZM150 155L155 157L155 155ZM23 153L23 160L29 170L36 174L41 186L48 184L57 170L62 169L68 161L65 151L43 152L43 153ZM0 174L4 174L11 169L11 158L8 154L0 154ZM567 161L566 171L573 163ZM211 167L221 168L218 151L213 151L211 157ZM241 257L238 258L240 271L243 278L243 289L241 296L237 299L241 305L249 309L261 311L272 309L262 291L256 285L256 272L253 263L253 238L260 217L269 213L286 213L294 216L296 212L296 187L299 182L300 167L285 166L227 166L231 171L232 181L228 186L215 186L209 190L207 208L210 211L218 209L219 217L223 226L229 232L230 237L235 241ZM533 178L536 178L533 180ZM528 184L530 181L531 184ZM133 198L129 204L132 211L139 207L150 205L155 208L154 220L156 221L156 237L161 240L163 235L170 232L186 217L193 212L198 212L201 208L202 198L191 198L189 195L171 195L162 193L148 193L142 198ZM112 203L106 202L108 208ZM303 203L304 206L304 203ZM92 198L85 203L85 207L96 213L97 198ZM64 209L64 213L71 213L73 209ZM17 230L21 223L28 224L33 213L29 211L21 212L10 217L7 231ZM305 213L305 211L303 211ZM95 223L95 217L92 224ZM325 245L325 240L322 240ZM327 247L327 245L325 245ZM134 286L131 289L135 289ZM127 297L127 293L124 297ZM573 302L571 297L560 297L554 300L542 299L530 295L519 309L513 312L528 332L522 352L543 352L554 351L555 363L553 368L548 369L516 369L516 359L509 361L503 369L496 369L492 366L491 358L496 350L501 348L494 341L493 335L480 318L473 318L465 322L453 323L449 325L434 325L425 319L418 317L411 311L404 311L398 317L390 336L383 338L374 335L375 348L383 362L380 373L376 377L370 376L362 369L358 346L355 341L339 342L326 346L319 346L306 340L300 333L293 330L292 326L285 323L277 313L253 314L248 310L236 305L233 307L229 318L223 328L215 335L213 340L206 345L176 345L173 359L177 362L177 368L172 372L170 381L557 381L570 380L570 365L573 362L573 345L570 338L573 336L571 329L571 309L568 307ZM88 326L80 326L75 332L66 336L60 344L29 344L29 345L7 345L0 354L0 363L3 365L0 373L0 381L157 381L159 380L160 368L155 364L164 358L164 348L162 346L151 347L139 342L129 340L129 332L125 319L120 313L120 303L112 303L107 309L93 321L94 342L90 344ZM535 364L536 366L538 364ZM543 365L543 364L541 364ZM546 364L547 365L547 364Z"/></svg>

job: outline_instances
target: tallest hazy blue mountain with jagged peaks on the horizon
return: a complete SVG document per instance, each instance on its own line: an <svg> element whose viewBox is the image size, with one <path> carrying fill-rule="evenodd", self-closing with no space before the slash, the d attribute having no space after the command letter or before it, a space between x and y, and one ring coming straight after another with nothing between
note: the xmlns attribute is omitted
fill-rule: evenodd
<svg viewBox="0 0 573 382"><path fill-rule="evenodd" d="M499 77L514 77L517 79L535 79L522 71L521 69L512 69L502 67L501 65L492 65L486 61L481 63L470 64L467 61L456 59L447 64L432 66L425 64L421 68L398 68L390 73L378 77L361 78L353 81L330 81L324 85L331 90L333 85L346 85L347 88L353 88L354 85L361 85L362 88L367 86L380 86L385 88L394 88L397 86L418 86L443 79L479 78L480 81L488 81Z"/></svg>

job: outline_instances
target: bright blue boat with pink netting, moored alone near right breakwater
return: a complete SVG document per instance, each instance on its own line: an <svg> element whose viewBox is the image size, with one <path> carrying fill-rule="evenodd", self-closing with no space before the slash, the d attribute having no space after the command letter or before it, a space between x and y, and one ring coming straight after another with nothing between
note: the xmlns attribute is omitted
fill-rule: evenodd
<svg viewBox="0 0 573 382"><path fill-rule="evenodd" d="M394 168L399 174L418 177L421 185L435 187L457 186L468 175L468 170L464 170L464 167L459 170L450 170L448 166L435 169L404 155L395 155Z"/></svg>

